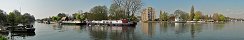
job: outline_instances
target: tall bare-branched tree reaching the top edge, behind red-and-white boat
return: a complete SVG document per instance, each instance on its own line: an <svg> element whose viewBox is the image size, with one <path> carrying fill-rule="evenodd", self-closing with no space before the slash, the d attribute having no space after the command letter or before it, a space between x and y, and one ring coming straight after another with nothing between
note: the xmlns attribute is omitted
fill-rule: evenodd
<svg viewBox="0 0 244 40"><path fill-rule="evenodd" d="M141 0L113 0L113 2L123 8L123 13L127 14L127 18L129 18L130 14L136 13L142 7Z"/></svg>

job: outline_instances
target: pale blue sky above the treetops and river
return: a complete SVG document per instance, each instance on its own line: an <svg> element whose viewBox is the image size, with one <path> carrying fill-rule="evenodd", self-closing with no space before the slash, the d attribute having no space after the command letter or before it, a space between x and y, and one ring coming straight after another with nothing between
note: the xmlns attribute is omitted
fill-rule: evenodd
<svg viewBox="0 0 244 40"><path fill-rule="evenodd" d="M173 14L175 10L190 12L191 6L205 15L220 13L228 17L244 18L244 0L142 0L143 8L153 7L156 13L165 11ZM82 10L89 12L94 6L110 7L112 0L0 0L0 9L9 13L21 10L37 19L56 16L58 13L73 14ZM140 14L138 14L140 15ZM157 15L158 17L159 15Z"/></svg>

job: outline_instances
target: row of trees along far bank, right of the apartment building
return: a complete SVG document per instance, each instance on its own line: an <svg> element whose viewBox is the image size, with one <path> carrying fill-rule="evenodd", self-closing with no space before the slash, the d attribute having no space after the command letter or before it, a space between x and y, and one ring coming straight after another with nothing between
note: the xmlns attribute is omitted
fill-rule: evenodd
<svg viewBox="0 0 244 40"><path fill-rule="evenodd" d="M203 15L201 11L195 11L194 6L192 6L190 13L184 12L182 10L176 10L174 14L169 14L167 12L160 11L159 20L172 21L177 16L179 16L180 19L183 19L185 21L206 21L206 20L227 21L228 19L231 19L230 17L226 17L220 13L213 13L212 16Z"/></svg>

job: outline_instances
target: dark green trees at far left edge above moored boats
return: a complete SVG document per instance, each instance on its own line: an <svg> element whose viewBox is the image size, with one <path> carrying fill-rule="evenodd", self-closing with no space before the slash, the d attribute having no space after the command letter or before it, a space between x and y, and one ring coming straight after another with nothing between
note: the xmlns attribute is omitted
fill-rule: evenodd
<svg viewBox="0 0 244 40"><path fill-rule="evenodd" d="M32 24L35 21L35 17L29 13L21 14L18 10L14 10L10 13L6 13L0 10L0 25L4 26L16 26L18 24Z"/></svg>

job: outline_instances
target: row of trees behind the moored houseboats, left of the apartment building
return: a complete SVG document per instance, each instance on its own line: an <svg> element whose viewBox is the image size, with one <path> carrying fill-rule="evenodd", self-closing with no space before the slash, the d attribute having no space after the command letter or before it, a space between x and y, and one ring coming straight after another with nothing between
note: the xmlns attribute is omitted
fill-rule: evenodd
<svg viewBox="0 0 244 40"><path fill-rule="evenodd" d="M108 9L106 6L95 6L89 12L78 12L69 16L65 13L59 13L57 16L49 18L52 21L59 21L62 17L68 17L71 20L120 20L129 19L131 21L139 20L135 17L135 13L142 7L141 0L112 0L112 4Z"/></svg>

